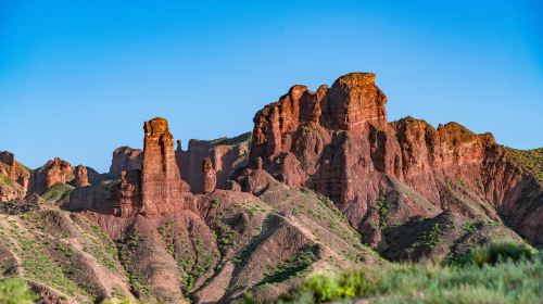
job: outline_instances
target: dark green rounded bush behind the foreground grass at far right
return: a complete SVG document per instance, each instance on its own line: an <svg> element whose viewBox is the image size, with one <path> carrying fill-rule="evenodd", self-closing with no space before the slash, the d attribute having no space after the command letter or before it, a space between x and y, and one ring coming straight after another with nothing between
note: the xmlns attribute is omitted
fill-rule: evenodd
<svg viewBox="0 0 543 304"><path fill-rule="evenodd" d="M519 262L522 259L531 259L536 254L536 251L531 246L514 242L501 241L492 242L471 249L467 254L453 259L453 264L463 265L495 265L502 262Z"/></svg>

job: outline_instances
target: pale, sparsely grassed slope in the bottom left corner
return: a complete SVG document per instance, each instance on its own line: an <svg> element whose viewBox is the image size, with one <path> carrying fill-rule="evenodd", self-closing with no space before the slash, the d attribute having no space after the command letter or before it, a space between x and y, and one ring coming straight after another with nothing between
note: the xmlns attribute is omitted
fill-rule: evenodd
<svg viewBox="0 0 543 304"><path fill-rule="evenodd" d="M130 294L114 243L80 215L43 203L0 214L0 277L73 303Z"/></svg>

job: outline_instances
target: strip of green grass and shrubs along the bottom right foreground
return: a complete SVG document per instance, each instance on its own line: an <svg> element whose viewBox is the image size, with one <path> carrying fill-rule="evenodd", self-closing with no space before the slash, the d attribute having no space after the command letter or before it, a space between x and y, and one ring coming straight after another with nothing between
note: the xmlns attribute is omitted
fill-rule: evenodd
<svg viewBox="0 0 543 304"><path fill-rule="evenodd" d="M464 266L389 264L317 274L282 303L319 303L363 296L369 303L541 303L543 255Z"/></svg>

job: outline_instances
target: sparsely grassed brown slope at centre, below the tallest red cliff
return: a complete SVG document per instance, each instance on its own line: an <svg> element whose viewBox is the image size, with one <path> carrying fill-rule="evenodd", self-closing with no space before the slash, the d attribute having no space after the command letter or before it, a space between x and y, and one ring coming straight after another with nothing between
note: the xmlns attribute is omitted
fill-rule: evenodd
<svg viewBox="0 0 543 304"><path fill-rule="evenodd" d="M384 263L329 200L311 190L274 183L258 198L217 190L201 200L220 252L193 296L202 303L230 303L245 292L257 303L273 301L315 271Z"/></svg>

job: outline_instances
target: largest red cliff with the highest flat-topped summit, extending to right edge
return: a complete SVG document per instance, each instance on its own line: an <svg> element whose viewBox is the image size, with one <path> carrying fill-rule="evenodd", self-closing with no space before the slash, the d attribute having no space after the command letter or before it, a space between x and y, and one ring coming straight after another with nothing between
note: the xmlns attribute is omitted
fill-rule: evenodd
<svg viewBox="0 0 543 304"><path fill-rule="evenodd" d="M457 123L435 129L411 117L388 123L387 98L374 80L355 73L316 92L292 87L254 117L251 166L262 160L275 178L329 197L372 245L386 245L387 221L442 211L504 220L543 242L535 232L541 183L505 156L492 135ZM392 202L399 197L402 206ZM379 215L381 201L395 210Z"/></svg>

